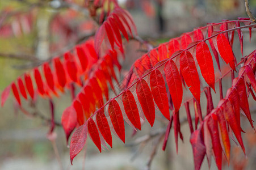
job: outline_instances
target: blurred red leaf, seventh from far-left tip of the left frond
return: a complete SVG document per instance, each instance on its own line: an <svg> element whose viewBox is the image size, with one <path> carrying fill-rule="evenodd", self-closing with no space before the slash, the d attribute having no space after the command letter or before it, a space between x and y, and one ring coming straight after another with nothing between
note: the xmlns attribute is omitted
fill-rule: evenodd
<svg viewBox="0 0 256 170"><path fill-rule="evenodd" d="M60 84L60 86L64 88L66 84L66 74L65 74L64 67L60 61L60 58L56 57L53 59L53 61L54 61L55 73L58 79L58 84Z"/></svg>

